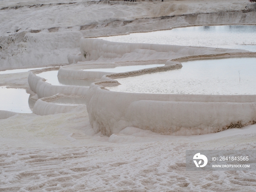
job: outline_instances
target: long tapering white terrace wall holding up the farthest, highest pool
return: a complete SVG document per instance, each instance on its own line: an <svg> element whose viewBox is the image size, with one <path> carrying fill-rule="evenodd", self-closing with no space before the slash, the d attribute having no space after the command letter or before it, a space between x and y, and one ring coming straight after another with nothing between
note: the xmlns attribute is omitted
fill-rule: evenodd
<svg viewBox="0 0 256 192"><path fill-rule="evenodd" d="M246 52L245 50L192 47L179 45L160 44L137 44L110 42L102 39L80 39L80 60L150 60L150 59L171 59L182 56L192 56L199 54L220 54L232 52ZM69 60L69 63L72 61Z"/></svg>

